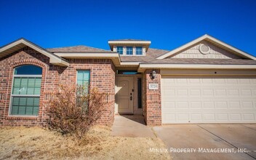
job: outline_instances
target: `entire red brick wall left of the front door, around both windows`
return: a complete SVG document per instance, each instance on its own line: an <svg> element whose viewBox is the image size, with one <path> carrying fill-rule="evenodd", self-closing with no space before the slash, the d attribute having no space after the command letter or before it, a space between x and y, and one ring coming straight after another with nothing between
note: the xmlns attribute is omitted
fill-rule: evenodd
<svg viewBox="0 0 256 160"><path fill-rule="evenodd" d="M115 68L111 60L68 60L70 66L60 67L49 63L49 57L25 47L0 59L0 125L40 125L47 118L44 111L49 102L49 96L57 92L59 84L76 85L76 70L88 69L91 73L91 87L108 93L105 112L100 124L111 125L114 116ZM9 116L9 103L12 89L13 69L18 65L32 64L43 68L41 81L41 96L39 116L19 117Z"/></svg>

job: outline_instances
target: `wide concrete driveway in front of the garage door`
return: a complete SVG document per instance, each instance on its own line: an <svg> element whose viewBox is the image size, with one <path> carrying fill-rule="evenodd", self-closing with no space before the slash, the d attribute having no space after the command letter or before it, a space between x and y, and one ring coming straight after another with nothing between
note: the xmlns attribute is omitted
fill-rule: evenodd
<svg viewBox="0 0 256 160"><path fill-rule="evenodd" d="M256 159L256 124L172 124L153 130L174 159Z"/></svg>

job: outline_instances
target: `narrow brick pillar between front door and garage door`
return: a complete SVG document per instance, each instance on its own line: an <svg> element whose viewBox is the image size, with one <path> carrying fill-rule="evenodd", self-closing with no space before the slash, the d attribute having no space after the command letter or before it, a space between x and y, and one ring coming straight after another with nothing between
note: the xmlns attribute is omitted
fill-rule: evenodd
<svg viewBox="0 0 256 160"><path fill-rule="evenodd" d="M152 71L156 78L151 79ZM159 84L159 89L149 89L148 84ZM161 75L160 70L145 70L143 74L143 112L147 125L161 125Z"/></svg>

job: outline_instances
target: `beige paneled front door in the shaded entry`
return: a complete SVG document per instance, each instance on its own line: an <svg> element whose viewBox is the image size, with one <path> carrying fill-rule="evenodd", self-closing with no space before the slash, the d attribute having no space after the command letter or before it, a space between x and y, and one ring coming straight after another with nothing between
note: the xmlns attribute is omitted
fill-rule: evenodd
<svg viewBox="0 0 256 160"><path fill-rule="evenodd" d="M133 113L133 77L118 76L116 79L118 111L121 114Z"/></svg>

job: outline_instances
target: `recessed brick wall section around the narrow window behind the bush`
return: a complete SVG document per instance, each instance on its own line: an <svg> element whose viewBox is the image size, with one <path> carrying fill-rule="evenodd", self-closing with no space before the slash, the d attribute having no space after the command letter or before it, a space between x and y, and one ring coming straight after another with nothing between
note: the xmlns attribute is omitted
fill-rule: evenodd
<svg viewBox="0 0 256 160"><path fill-rule="evenodd" d="M100 92L108 93L105 112L100 124L109 125L114 119L115 103L115 68L111 60L69 59L70 66L60 76L60 84L76 86L76 70L90 71L90 87L97 87Z"/></svg>

